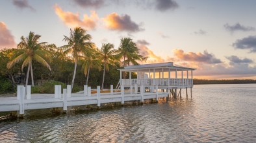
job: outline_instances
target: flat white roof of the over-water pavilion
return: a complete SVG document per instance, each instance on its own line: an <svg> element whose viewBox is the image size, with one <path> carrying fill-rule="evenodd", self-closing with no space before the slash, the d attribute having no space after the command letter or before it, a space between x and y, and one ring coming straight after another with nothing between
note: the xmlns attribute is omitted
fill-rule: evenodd
<svg viewBox="0 0 256 143"><path fill-rule="evenodd" d="M151 63L151 64L144 64L144 65L129 65L124 67L124 69L119 69L120 71L133 71L133 72L148 72L149 69L155 69L155 72L159 71L194 71L196 69L189 68L189 67L181 67L178 65L173 65L173 62L166 62L166 63ZM153 72L153 71L151 71Z"/></svg>

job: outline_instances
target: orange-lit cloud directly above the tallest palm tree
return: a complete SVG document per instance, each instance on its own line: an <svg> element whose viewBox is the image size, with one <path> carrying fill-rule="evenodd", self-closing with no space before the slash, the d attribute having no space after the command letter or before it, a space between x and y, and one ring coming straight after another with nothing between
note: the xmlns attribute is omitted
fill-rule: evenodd
<svg viewBox="0 0 256 143"><path fill-rule="evenodd" d="M79 18L79 13L73 14L72 12L64 12L57 4L55 5L55 13L64 22L65 25L70 27L85 27L88 30L96 28L96 21L99 19L95 11L91 11L90 17L84 14L83 20Z"/></svg>

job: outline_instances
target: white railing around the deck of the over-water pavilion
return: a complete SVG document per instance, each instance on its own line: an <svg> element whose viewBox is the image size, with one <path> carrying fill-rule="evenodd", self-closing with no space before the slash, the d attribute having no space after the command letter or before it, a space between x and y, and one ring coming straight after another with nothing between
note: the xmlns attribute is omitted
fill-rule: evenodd
<svg viewBox="0 0 256 143"><path fill-rule="evenodd" d="M160 78L160 79L122 79L120 85L159 85L159 86L192 85L192 79L187 78Z"/></svg>

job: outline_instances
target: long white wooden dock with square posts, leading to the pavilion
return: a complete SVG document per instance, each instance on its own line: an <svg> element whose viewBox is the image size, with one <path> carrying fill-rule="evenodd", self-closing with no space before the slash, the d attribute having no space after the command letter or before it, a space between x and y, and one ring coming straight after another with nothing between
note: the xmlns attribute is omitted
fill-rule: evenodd
<svg viewBox="0 0 256 143"><path fill-rule="evenodd" d="M0 98L0 112L19 111L19 115L23 115L25 110L30 109L62 107L66 111L68 106L75 105L97 104L100 107L101 104L105 103L121 102L124 104L124 102L133 100L144 102L146 99L158 100L162 97L168 97L168 93L159 92L158 86L147 89L148 92L145 92L144 85L140 86L140 92L136 87L130 89L130 91L125 91L122 85L121 92L113 92L111 85L110 93L100 93L98 86L97 93L91 94L91 87L84 85L84 93L71 94L70 85L67 86L67 89L63 89L62 93L60 85L55 85L54 94L31 94L31 86L28 85L27 94L25 94L25 87L19 85L17 97Z"/></svg>

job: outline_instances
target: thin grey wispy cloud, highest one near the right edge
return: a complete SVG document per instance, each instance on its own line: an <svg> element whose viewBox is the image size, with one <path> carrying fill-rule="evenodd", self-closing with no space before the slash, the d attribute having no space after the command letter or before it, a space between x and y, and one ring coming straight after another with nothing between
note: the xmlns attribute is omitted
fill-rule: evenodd
<svg viewBox="0 0 256 143"><path fill-rule="evenodd" d="M240 25L240 23L236 23L235 25L229 25L229 23L226 23L224 25L224 28L225 28L225 30L227 30L231 33L235 32L235 31L244 31L244 32L255 31L254 27L246 27L244 25Z"/></svg>

